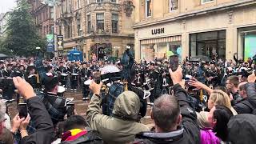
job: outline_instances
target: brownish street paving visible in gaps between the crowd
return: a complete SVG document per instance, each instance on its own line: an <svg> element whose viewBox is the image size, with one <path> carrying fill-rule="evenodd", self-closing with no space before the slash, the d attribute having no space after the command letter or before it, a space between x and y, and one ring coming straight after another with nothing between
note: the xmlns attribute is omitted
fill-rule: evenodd
<svg viewBox="0 0 256 144"><path fill-rule="evenodd" d="M74 98L73 102L74 102L74 107L75 107L77 114L82 115L82 117L86 118L86 110L88 108L90 101L82 100L82 90L66 91L64 93L64 97L65 98ZM150 118L150 110L151 110L151 106L148 106L146 116L141 119L141 122L148 126L152 126L152 123L153 123L152 119ZM9 111L11 118L14 118L15 114L18 114L16 101L12 102L10 104L8 111Z"/></svg>

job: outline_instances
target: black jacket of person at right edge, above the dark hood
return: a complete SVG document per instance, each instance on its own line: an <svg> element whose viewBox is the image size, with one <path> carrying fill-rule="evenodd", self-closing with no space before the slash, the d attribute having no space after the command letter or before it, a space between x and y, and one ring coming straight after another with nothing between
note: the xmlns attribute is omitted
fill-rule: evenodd
<svg viewBox="0 0 256 144"><path fill-rule="evenodd" d="M234 110L236 110L238 114L252 114L256 108L256 90L254 83L246 84L246 94L247 98L242 98L242 100L236 102L234 105Z"/></svg>

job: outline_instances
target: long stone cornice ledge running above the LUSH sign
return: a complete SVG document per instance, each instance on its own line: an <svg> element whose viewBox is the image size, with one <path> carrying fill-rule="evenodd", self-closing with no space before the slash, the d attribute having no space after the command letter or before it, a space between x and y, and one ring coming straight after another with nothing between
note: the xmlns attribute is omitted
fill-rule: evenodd
<svg viewBox="0 0 256 144"><path fill-rule="evenodd" d="M214 12L218 12L218 11L222 11L222 10L230 10L230 9L239 8L239 7L243 7L243 6L250 6L250 5L254 5L254 4L256 4L255 0L244 0L242 2L241 1L230 2L230 3L218 5L218 6L212 6L210 8L206 8L203 10L195 10L195 11L190 11L187 13L178 14L175 17L166 17L166 18L158 18L158 19L150 19L149 18L149 19L145 20L145 22L138 22L132 27L134 29L138 29L138 28L142 28L142 27L146 27L146 26L154 26L154 25L161 24L161 23L174 22L174 21L181 20L184 18L191 18L191 17L202 15L202 14L210 14L210 13L214 13Z"/></svg>

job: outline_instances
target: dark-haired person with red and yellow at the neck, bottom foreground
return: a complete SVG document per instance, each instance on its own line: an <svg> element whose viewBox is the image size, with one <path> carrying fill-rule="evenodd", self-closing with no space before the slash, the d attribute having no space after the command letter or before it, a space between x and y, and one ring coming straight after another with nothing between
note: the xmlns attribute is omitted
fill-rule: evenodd
<svg viewBox="0 0 256 144"><path fill-rule="evenodd" d="M98 132L90 130L84 118L72 115L63 122L62 144L76 143L103 143Z"/></svg>

